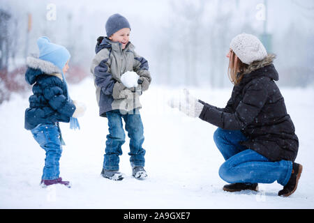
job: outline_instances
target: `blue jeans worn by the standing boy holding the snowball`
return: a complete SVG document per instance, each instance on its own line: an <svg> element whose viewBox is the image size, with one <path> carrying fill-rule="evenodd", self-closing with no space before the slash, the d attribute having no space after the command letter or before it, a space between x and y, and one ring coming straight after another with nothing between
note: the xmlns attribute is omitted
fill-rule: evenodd
<svg viewBox="0 0 314 223"><path fill-rule="evenodd" d="M133 166L144 167L145 150L142 148L144 142L144 128L138 110L133 114L121 114L119 110L106 112L109 125L107 134L103 168L107 170L119 170L119 155L122 155L121 146L125 142L126 134L122 124L122 118L126 123L126 131L130 138L130 162Z"/></svg>

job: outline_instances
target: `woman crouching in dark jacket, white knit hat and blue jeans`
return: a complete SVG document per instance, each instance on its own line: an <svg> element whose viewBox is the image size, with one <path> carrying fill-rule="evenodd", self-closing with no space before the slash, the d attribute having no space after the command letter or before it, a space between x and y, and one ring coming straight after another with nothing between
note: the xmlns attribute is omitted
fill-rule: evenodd
<svg viewBox="0 0 314 223"><path fill-rule="evenodd" d="M297 157L299 141L287 114L278 86L273 54L255 36L242 33L232 39L228 75L234 88L225 108L193 98L184 90L181 100L172 99L188 116L218 126L214 141L225 162L219 176L223 190L258 190L257 183L283 185L279 196L290 196L298 185L302 166Z"/></svg>

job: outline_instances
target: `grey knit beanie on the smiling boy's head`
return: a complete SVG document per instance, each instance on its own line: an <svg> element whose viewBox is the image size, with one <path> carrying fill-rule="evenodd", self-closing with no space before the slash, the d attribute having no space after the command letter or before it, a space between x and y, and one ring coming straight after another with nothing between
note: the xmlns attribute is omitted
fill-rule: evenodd
<svg viewBox="0 0 314 223"><path fill-rule="evenodd" d="M119 31L120 29L130 29L130 24L128 23L128 20L126 20L126 17L117 13L108 18L105 28L107 37L110 37L113 33Z"/></svg>

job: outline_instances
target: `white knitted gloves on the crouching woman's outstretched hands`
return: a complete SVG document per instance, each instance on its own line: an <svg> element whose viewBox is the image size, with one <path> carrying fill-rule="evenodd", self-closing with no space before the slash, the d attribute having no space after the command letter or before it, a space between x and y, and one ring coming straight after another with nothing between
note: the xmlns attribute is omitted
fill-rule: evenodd
<svg viewBox="0 0 314 223"><path fill-rule="evenodd" d="M196 98L190 95L187 89L184 89L184 95L179 97L179 99L171 98L168 101L168 105L193 118L199 117L204 107Z"/></svg>

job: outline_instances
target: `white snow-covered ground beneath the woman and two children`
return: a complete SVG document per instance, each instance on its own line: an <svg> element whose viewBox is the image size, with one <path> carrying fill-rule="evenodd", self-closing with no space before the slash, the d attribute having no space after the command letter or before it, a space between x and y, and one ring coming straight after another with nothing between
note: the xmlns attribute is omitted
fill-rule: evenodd
<svg viewBox="0 0 314 223"><path fill-rule="evenodd" d="M223 157L213 133L216 128L167 107L167 98L180 89L151 86L142 95L142 121L149 178L131 177L128 137L123 146L122 181L100 176L107 119L98 116L94 83L85 79L70 86L71 97L87 105L79 118L81 130L61 124L66 146L60 160L61 177L73 187L39 186L45 152L24 130L29 95L14 95L0 105L0 208L314 208L314 90L281 89L299 137L296 162L304 165L292 196L278 197L278 183L260 184L260 192L223 192L218 176ZM190 89L206 102L224 107L230 89Z"/></svg>

